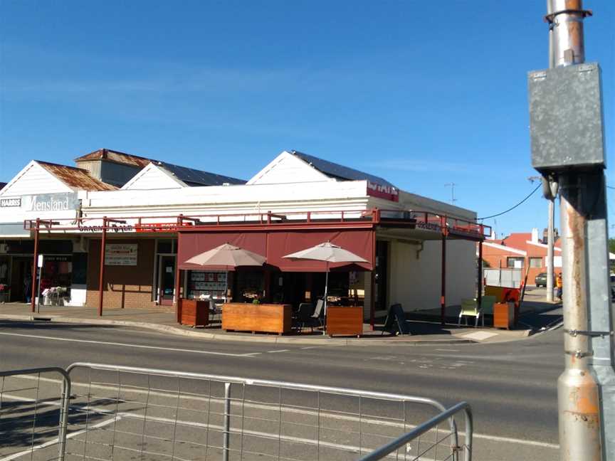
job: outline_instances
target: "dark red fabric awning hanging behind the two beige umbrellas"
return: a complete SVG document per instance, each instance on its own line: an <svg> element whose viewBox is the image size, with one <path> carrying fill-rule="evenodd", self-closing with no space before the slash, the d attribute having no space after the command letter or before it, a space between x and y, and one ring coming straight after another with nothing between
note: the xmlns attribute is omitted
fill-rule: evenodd
<svg viewBox="0 0 615 461"><path fill-rule="evenodd" d="M266 232L186 232L179 233L179 268L202 270L203 267L186 264L199 253L211 250L222 243L231 243L267 258L267 264L279 267L283 272L325 272L326 263L310 260L290 260L283 256L305 250L318 243L330 241L361 256L369 263L352 264L352 270L372 270L374 258L373 230L291 230ZM330 268L344 267L343 263L331 264ZM349 265L350 267L351 265ZM211 267L214 269L214 267ZM224 270L224 267L219 269Z"/></svg>

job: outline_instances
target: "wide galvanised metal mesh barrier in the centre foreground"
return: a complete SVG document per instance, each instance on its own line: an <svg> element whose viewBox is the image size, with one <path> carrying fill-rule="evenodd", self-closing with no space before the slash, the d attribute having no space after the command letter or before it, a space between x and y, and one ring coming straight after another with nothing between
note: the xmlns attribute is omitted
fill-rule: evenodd
<svg viewBox="0 0 615 461"><path fill-rule="evenodd" d="M416 396L132 366L77 363L66 373L60 455L31 459L471 461L467 403L446 410ZM0 461L18 459L2 445Z"/></svg>

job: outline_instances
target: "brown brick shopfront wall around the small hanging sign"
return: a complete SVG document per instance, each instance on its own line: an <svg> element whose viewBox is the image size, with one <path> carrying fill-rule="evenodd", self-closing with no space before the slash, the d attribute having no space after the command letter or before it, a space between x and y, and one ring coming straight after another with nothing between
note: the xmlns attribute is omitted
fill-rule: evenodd
<svg viewBox="0 0 615 461"><path fill-rule="evenodd" d="M155 307L152 301L154 278L155 241L107 240L107 243L137 243L137 266L105 266L103 282L103 308L143 309ZM100 240L90 240L88 255L88 293L85 300L89 307L98 307L98 278L100 275Z"/></svg>

